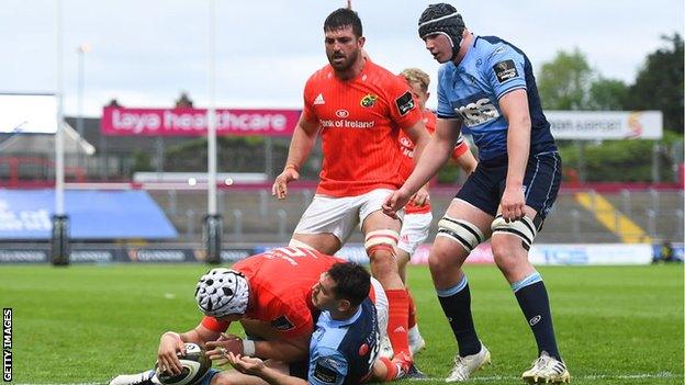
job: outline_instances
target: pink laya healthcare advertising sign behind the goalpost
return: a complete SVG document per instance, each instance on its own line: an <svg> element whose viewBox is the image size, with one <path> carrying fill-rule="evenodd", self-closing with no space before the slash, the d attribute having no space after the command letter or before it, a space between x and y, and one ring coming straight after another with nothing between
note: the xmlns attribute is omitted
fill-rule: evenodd
<svg viewBox="0 0 685 385"><path fill-rule="evenodd" d="M216 135L291 136L300 110L215 111ZM104 107L101 129L104 135L202 136L207 133L204 109L124 109Z"/></svg>

